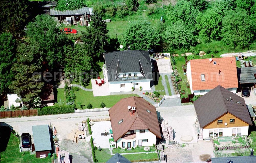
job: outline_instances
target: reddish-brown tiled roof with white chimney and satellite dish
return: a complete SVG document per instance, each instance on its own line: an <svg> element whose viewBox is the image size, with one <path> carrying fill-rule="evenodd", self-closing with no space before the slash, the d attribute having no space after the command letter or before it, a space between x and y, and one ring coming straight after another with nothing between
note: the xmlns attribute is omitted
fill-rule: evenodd
<svg viewBox="0 0 256 163"><path fill-rule="evenodd" d="M128 106L135 107L134 115L131 115ZM151 111L151 113L147 112ZM144 130L161 138L156 108L142 97L123 98L109 109L109 117L113 131L114 141L117 141L129 130ZM118 123L123 119L123 122Z"/></svg>

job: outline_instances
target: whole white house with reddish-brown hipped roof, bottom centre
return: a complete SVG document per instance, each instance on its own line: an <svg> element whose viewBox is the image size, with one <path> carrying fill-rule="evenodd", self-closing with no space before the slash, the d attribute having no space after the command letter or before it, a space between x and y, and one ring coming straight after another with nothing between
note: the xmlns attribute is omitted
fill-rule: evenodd
<svg viewBox="0 0 256 163"><path fill-rule="evenodd" d="M116 148L152 146L161 139L156 108L142 97L123 98L109 109Z"/></svg>

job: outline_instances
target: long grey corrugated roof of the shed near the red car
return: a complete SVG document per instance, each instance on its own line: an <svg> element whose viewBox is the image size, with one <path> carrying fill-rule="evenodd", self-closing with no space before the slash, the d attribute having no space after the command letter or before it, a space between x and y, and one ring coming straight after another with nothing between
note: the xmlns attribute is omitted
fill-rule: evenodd
<svg viewBox="0 0 256 163"><path fill-rule="evenodd" d="M60 11L55 10L55 8L50 8L50 15L83 15L83 14L91 14L89 11L89 7L83 7L76 10L66 10L66 11Z"/></svg>

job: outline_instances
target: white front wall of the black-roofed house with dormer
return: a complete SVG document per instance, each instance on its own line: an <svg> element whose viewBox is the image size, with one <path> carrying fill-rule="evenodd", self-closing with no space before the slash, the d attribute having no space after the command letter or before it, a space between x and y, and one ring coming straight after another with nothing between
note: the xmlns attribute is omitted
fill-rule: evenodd
<svg viewBox="0 0 256 163"><path fill-rule="evenodd" d="M132 83L131 83L132 82ZM135 89L139 89L142 86L142 90L148 91L150 88L150 80L128 80L128 81L115 81L109 82L109 91L110 92L130 92L132 91L133 83L139 83L135 85ZM124 87L121 87L121 84L125 84Z"/></svg>

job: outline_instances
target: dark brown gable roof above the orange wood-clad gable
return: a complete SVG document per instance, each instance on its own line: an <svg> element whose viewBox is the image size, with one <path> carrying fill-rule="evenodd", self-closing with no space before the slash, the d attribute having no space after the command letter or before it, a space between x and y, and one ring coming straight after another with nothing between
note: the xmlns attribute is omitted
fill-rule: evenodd
<svg viewBox="0 0 256 163"><path fill-rule="evenodd" d="M241 104L237 102L241 102ZM194 106L201 128L227 112L252 125L244 99L220 85L198 98L194 102Z"/></svg>

